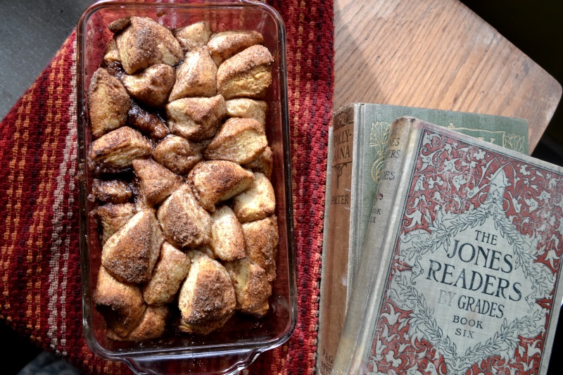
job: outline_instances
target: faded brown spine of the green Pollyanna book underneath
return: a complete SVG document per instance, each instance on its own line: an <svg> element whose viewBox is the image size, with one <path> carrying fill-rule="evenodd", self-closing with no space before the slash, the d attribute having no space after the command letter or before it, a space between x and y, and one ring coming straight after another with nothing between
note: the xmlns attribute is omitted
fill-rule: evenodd
<svg viewBox="0 0 563 375"><path fill-rule="evenodd" d="M331 373L346 313L348 245L350 240L350 192L353 174L355 106L334 114L331 158L327 160L329 215L324 222L322 286L319 317L317 371ZM328 177L328 174L327 174Z"/></svg>

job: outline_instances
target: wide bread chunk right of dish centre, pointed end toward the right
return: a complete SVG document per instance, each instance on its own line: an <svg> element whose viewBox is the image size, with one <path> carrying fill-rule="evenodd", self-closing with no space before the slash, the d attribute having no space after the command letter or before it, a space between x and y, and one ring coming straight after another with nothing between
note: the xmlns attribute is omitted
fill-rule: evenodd
<svg viewBox="0 0 563 375"><path fill-rule="evenodd" d="M202 161L188 174L188 182L199 203L210 212L215 204L226 201L248 189L253 174L236 163L227 160Z"/></svg>

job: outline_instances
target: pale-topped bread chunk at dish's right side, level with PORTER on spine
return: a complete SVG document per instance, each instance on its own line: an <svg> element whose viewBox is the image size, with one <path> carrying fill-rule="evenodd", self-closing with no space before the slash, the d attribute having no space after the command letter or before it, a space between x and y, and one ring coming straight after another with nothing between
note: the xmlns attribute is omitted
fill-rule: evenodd
<svg viewBox="0 0 563 375"><path fill-rule="evenodd" d="M252 222L272 215L276 209L274 187L262 173L254 174L254 182L233 198L233 210L239 222Z"/></svg>

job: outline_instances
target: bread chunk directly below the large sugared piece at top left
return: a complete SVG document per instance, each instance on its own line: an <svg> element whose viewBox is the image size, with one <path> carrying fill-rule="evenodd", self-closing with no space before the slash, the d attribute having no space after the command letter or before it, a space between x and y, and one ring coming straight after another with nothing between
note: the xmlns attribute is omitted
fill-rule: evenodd
<svg viewBox="0 0 563 375"><path fill-rule="evenodd" d="M149 107L163 106L174 87L176 71L170 65L156 64L135 75L122 75L129 95Z"/></svg>

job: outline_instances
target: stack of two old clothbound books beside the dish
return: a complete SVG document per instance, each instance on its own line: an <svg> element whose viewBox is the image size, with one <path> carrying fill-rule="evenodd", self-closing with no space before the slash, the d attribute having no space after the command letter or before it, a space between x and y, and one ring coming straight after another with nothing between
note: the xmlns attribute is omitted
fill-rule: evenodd
<svg viewBox="0 0 563 375"><path fill-rule="evenodd" d="M525 120L354 103L330 129L321 374L545 374L563 168Z"/></svg>

